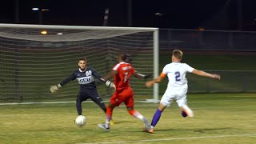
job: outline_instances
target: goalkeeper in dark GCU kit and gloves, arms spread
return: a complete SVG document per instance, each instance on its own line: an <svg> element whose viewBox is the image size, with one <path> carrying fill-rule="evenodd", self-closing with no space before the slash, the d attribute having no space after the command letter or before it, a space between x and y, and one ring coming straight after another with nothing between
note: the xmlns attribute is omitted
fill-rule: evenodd
<svg viewBox="0 0 256 144"><path fill-rule="evenodd" d="M55 93L57 90L66 85L66 83L73 81L74 79L78 80L80 85L80 91L77 96L76 106L78 110L78 115L82 115L82 102L90 98L94 101L106 114L106 105L104 104L101 96L98 94L96 89L96 83L94 78L97 78L100 82L105 82L106 86L114 87L114 83L110 81L105 81L100 74L94 68L86 66L86 58L80 58L78 60L78 70L74 70L73 74L70 77L64 79L58 85L50 86L50 92ZM114 124L111 121L111 124Z"/></svg>

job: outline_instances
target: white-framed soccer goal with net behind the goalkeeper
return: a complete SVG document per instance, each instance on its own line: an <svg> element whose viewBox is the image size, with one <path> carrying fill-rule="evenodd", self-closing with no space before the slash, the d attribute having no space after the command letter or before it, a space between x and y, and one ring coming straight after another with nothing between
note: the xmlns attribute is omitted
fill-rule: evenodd
<svg viewBox="0 0 256 144"><path fill-rule="evenodd" d="M158 75L158 29L106 26L47 26L0 24L0 102L75 101L76 80L50 93L78 69L78 58L102 76L117 63L118 52L130 54L142 74ZM136 100L158 99L158 86L131 78ZM113 90L105 84L98 93L108 100Z"/></svg>

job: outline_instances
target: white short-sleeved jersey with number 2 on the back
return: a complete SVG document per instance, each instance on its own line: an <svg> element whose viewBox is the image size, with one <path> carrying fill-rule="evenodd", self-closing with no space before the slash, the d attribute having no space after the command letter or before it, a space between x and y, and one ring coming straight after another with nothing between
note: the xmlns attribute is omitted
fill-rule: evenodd
<svg viewBox="0 0 256 144"><path fill-rule="evenodd" d="M186 93L188 87L186 73L191 73L193 70L194 68L186 63L171 62L167 64L162 70L162 74L166 74L169 79L166 92L175 94Z"/></svg>

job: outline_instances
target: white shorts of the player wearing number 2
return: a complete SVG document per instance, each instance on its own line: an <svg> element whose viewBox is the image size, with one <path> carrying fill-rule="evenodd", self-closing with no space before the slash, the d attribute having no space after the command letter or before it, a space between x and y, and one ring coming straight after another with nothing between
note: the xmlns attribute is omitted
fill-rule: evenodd
<svg viewBox="0 0 256 144"><path fill-rule="evenodd" d="M172 93L165 93L163 94L161 98L161 103L163 106L170 106L171 102L176 100L179 107L182 107L183 105L187 105L186 101L186 93L185 94L172 94Z"/></svg>

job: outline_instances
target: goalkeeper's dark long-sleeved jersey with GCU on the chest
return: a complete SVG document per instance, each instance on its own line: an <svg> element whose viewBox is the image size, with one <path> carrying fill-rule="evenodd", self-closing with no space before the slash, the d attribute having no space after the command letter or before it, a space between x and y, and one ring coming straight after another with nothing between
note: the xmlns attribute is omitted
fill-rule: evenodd
<svg viewBox="0 0 256 144"><path fill-rule="evenodd" d="M86 67L84 71L80 69L74 70L73 74L71 74L69 78L64 79L60 84L64 86L67 82L77 79L80 85L80 91L95 90L96 84L94 78L99 79L102 78L102 76L98 74L94 68Z"/></svg>

